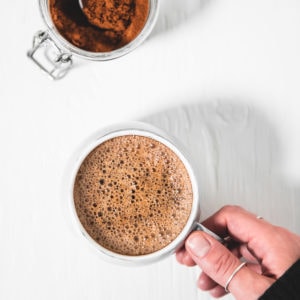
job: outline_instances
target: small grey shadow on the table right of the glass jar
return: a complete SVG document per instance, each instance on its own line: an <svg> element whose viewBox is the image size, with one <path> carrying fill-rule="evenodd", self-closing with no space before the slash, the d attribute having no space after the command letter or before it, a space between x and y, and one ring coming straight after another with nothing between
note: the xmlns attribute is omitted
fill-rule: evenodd
<svg viewBox="0 0 300 300"><path fill-rule="evenodd" d="M206 9L213 0L161 0L153 35L172 29Z"/></svg>

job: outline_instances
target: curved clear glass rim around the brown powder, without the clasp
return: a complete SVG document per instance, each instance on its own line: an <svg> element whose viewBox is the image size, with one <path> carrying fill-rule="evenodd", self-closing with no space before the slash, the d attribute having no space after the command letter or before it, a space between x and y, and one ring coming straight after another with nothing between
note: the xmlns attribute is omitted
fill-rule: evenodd
<svg viewBox="0 0 300 300"><path fill-rule="evenodd" d="M62 48L63 50L84 59L105 61L128 54L147 39L147 37L152 32L158 17L159 1L160 0L149 0L149 13L141 32L128 44L108 52L92 52L76 47L66 38L64 38L56 29L54 23L52 22L50 10L48 7L49 0L39 0L39 7L43 20L48 28L48 33L51 36L52 40L57 44L57 47Z"/></svg>

